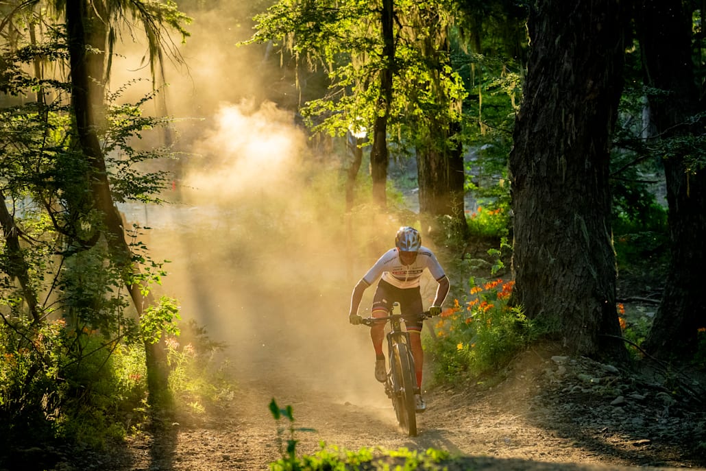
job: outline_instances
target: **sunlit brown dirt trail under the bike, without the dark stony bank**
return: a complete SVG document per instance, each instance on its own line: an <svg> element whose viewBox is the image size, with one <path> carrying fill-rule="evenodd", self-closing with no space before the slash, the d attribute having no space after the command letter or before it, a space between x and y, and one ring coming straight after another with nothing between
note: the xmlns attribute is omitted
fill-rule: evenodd
<svg viewBox="0 0 706 471"><path fill-rule="evenodd" d="M517 359L508 379L489 390L431 390L429 410L418 416L419 436L405 436L371 371L352 383L339 378L320 381L317 362L309 357L309 374L292 375L282 364L249 364L258 370L241 382L232 407L220 414L184 418L154 436L131 442L116 471L133 470L267 470L281 456L277 424L268 412L276 398L294 407L298 431L297 451L318 451L320 441L351 451L362 447L424 451L439 448L470 455L472 462L453 470L623 470L703 465L693 443L680 442L703 422L681 415L674 436L659 436L659 429L630 428L630 417L603 417L597 427L582 409L589 398L558 394L545 370L556 369L551 350L531 350ZM589 362L590 365L592 363ZM582 370L584 371L584 370ZM349 378L350 379L350 378ZM372 387L371 387L372 386ZM562 399L563 397L563 399ZM645 417L655 410L645 407ZM681 412L674 410L676 415ZM703 420L703 415L700 415ZM286 427L280 422L280 427ZM287 435L285 434L285 439ZM119 465L119 466L118 466ZM471 467L472 466L472 467ZM634 468L633 468L634 467ZM700 468L706 469L706 468Z"/></svg>

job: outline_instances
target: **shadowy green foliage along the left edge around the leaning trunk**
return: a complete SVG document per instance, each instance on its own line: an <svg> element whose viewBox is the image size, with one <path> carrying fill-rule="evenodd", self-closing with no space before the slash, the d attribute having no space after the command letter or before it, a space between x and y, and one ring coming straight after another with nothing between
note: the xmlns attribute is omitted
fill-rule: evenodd
<svg viewBox="0 0 706 471"><path fill-rule="evenodd" d="M61 439L100 448L145 419L146 338L130 307L124 264L109 256L112 241L96 235L102 217L86 198L90 181L76 147L70 88L24 72L35 59L66 59L63 41L49 37L0 54L9 65L3 91L43 97L0 109L0 307L7 313L0 323L0 436L8 446ZM102 145L119 201L155 201L161 191L162 174L136 167L164 154L133 148L142 131L167 123L142 116L152 97L109 107ZM132 248L133 263L146 268L133 280L146 293L166 273L144 244L133 239ZM37 316L28 314L32 299ZM154 340L155 328L176 319L176 304L164 298L148 313L144 333Z"/></svg>

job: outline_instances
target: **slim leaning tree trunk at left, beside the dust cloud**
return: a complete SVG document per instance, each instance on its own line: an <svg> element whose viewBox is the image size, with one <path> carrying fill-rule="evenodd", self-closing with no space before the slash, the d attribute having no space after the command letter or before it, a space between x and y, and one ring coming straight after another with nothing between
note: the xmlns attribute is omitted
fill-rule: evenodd
<svg viewBox="0 0 706 471"><path fill-rule="evenodd" d="M104 155L96 133L94 108L90 96L90 75L87 57L86 25L92 17L92 8L85 0L66 2L66 29L71 66L71 102L76 118L76 131L83 154L88 160L88 179L92 203L102 213L104 236L113 261L123 268L124 282L130 290L138 315L145 309L140 286L132 284L133 263L131 249L125 241L122 218L117 210L108 180ZM145 342L147 354L148 388L150 401L157 404L167 398L168 368L163 345Z"/></svg>

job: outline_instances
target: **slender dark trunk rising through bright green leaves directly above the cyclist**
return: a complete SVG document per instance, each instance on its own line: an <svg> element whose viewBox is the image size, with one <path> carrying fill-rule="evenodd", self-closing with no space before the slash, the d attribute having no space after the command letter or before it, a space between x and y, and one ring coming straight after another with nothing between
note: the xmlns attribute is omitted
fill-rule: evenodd
<svg viewBox="0 0 706 471"><path fill-rule="evenodd" d="M393 71L395 68L395 2L383 0L381 22L383 26L383 61L380 71L380 96L378 116L373 124L373 146L370 151L371 177L373 179L373 203L385 209L388 205L388 117L393 101Z"/></svg>

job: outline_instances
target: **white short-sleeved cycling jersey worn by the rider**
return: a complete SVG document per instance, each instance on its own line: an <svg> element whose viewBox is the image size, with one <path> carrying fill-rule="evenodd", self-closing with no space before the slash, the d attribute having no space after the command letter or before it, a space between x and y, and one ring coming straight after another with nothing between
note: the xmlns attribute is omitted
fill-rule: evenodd
<svg viewBox="0 0 706 471"><path fill-rule="evenodd" d="M434 280L439 281L446 275L436 260L436 256L431 250L424 246L419 247L417 258L411 265L402 265L397 248L390 249L383 256L378 258L368 273L363 277L363 281L369 286L380 276L383 280L398 288L414 288L419 286L419 279L424 269L429 269L429 273Z"/></svg>

